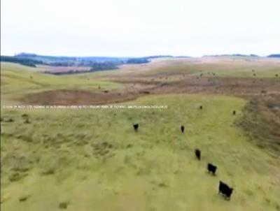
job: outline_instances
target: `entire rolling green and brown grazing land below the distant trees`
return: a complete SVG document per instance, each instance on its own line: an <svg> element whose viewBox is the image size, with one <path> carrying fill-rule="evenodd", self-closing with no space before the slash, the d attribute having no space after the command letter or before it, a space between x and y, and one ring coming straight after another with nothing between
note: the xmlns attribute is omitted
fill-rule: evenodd
<svg viewBox="0 0 280 211"><path fill-rule="evenodd" d="M280 210L279 59L41 71L1 63L1 210ZM103 104L167 108L2 108Z"/></svg>

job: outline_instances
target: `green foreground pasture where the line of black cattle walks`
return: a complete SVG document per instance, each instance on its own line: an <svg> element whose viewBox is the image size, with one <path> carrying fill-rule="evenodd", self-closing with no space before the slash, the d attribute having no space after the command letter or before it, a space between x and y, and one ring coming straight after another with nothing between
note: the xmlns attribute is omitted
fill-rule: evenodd
<svg viewBox="0 0 280 211"><path fill-rule="evenodd" d="M67 210L280 209L279 160L234 124L244 100L166 95L131 104L159 102L169 107L1 110L4 120L14 120L2 124L1 208L59 210L64 203ZM31 124L24 124L22 114ZM139 122L139 133L133 122ZM202 161L195 159L196 147ZM207 173L207 162L218 165L216 177ZM235 188L231 201L218 196L219 180Z"/></svg>

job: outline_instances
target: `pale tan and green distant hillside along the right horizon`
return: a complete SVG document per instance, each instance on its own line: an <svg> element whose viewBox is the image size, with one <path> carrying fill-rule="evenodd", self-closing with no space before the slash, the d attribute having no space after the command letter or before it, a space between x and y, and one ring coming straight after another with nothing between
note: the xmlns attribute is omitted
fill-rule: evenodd
<svg viewBox="0 0 280 211"><path fill-rule="evenodd" d="M254 71L252 71L254 70ZM125 65L120 71L106 71L97 75L127 77L165 77L181 74L223 78L280 78L280 59L247 57L202 57L182 59L154 59L144 65ZM255 73L255 75L254 75ZM176 79L176 78L175 78Z"/></svg>

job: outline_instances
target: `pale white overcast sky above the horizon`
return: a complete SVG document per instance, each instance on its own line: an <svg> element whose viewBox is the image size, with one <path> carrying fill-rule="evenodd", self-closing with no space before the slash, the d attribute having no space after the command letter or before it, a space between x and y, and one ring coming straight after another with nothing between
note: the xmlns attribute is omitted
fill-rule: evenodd
<svg viewBox="0 0 280 211"><path fill-rule="evenodd" d="M280 52L279 0L1 0L1 54Z"/></svg>

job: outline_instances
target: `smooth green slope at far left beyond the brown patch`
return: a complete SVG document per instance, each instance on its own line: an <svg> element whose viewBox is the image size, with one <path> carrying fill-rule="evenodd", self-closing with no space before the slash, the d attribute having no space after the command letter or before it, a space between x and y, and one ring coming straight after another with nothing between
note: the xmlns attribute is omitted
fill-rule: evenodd
<svg viewBox="0 0 280 211"><path fill-rule="evenodd" d="M113 89L119 85L84 75L48 75L40 69L1 62L1 101L14 101L22 94L55 89Z"/></svg>

